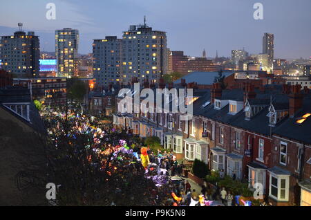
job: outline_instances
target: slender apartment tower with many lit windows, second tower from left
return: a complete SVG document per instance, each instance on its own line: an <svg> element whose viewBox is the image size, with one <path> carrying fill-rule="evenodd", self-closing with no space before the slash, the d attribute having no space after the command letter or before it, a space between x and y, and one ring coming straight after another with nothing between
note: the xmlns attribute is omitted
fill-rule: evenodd
<svg viewBox="0 0 311 220"><path fill-rule="evenodd" d="M79 30L64 28L55 31L57 76L73 77L79 48Z"/></svg>

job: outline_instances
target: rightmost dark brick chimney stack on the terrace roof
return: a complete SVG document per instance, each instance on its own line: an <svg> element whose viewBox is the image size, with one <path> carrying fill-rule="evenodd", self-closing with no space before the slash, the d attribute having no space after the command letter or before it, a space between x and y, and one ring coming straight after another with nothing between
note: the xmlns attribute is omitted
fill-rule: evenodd
<svg viewBox="0 0 311 220"><path fill-rule="evenodd" d="M296 84L292 86L292 93L290 98L290 118L294 118L295 113L303 106L303 94L301 93L301 85Z"/></svg>

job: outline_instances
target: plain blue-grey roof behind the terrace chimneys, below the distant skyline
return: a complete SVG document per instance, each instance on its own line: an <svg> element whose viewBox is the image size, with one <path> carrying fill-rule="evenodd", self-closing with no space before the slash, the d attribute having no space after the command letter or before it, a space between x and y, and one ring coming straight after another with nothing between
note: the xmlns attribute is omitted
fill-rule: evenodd
<svg viewBox="0 0 311 220"><path fill-rule="evenodd" d="M234 74L234 71L223 71L223 75L228 77ZM181 79L186 80L186 83L196 82L200 85L212 85L214 83L215 77L218 76L218 72L193 72L185 75ZM180 84L181 79L176 80L174 84Z"/></svg>

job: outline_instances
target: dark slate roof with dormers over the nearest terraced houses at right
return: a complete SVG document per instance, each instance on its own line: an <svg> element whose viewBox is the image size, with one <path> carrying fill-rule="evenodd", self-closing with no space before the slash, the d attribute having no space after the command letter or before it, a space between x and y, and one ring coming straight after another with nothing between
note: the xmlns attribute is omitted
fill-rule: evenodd
<svg viewBox="0 0 311 220"><path fill-rule="evenodd" d="M239 111L235 115L229 114L229 104L220 110L214 109L214 103L209 103L211 100L211 91L205 91L205 95L202 95L201 98L194 102L194 115L265 136L276 134L302 143L311 144L311 116L302 124L296 123L296 120L305 115L305 113L311 113L311 94L305 94L303 108L296 113L294 118L286 116L275 127L270 127L270 119L267 117L267 114L269 113L271 100L276 110L288 111L289 109L288 95L281 93L280 86L272 86L272 88L274 89L269 89L264 93L256 91L256 98L249 100L249 104L263 107L250 120L245 120L244 111ZM223 90L223 95L219 99L242 101L243 89Z"/></svg>

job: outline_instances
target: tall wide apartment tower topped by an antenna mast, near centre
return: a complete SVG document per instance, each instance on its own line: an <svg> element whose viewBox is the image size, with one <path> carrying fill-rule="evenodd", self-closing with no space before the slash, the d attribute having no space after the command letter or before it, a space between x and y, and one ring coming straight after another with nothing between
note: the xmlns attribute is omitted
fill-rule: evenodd
<svg viewBox="0 0 311 220"><path fill-rule="evenodd" d="M122 82L131 82L137 77L142 83L145 79L159 82L168 68L167 35L164 31L153 30L147 26L131 25L123 32L122 39Z"/></svg>

